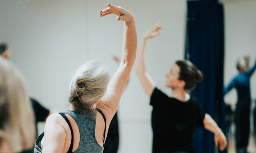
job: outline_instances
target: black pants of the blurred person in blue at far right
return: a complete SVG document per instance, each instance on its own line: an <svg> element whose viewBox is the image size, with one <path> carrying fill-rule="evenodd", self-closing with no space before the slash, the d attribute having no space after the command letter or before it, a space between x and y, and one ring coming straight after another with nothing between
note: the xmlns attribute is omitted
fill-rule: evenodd
<svg viewBox="0 0 256 153"><path fill-rule="evenodd" d="M246 150L250 132L250 102L238 102L235 113L236 150Z"/></svg>

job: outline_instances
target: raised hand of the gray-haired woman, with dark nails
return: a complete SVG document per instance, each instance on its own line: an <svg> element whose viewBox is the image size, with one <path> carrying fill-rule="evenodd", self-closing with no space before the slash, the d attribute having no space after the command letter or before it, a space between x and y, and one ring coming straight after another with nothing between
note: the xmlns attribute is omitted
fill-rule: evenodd
<svg viewBox="0 0 256 153"><path fill-rule="evenodd" d="M99 11L99 16L104 17L108 14L116 14L116 20L122 20L125 21L126 24L130 23L134 20L132 14L130 11L126 10L125 8L122 8L120 6L114 6L108 3L108 7L104 10Z"/></svg>

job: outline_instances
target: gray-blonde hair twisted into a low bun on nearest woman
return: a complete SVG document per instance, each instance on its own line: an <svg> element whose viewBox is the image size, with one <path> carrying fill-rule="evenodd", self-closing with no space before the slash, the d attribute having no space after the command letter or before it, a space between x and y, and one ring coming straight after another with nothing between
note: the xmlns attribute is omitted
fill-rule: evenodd
<svg viewBox="0 0 256 153"><path fill-rule="evenodd" d="M82 115L95 119L96 108L93 103L105 94L110 79L107 66L97 60L85 62L70 82L69 103Z"/></svg>

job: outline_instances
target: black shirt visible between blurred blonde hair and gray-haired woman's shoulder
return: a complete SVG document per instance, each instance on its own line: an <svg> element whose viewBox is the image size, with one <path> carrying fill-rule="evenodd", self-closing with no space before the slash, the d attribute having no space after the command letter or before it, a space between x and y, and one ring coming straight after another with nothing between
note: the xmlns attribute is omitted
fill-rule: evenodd
<svg viewBox="0 0 256 153"><path fill-rule="evenodd" d="M44 122L46 117L49 115L49 110L44 108L42 105L40 105L35 99L30 98L30 101L32 103L32 108L34 111L34 117L35 117L35 129L36 129L36 137L38 136L38 122ZM30 150L24 150L21 153L34 153L34 147Z"/></svg>

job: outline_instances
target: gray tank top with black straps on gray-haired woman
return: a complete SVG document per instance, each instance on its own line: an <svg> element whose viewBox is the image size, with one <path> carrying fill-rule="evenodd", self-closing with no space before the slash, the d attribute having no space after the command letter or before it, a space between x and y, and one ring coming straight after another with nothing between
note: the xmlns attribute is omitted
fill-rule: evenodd
<svg viewBox="0 0 256 153"><path fill-rule="evenodd" d="M99 111L99 113L102 114L102 117L105 121L103 147L99 145L95 137L96 119L91 120L90 117L84 117L77 111L64 111L63 113L59 113L66 120L71 130L72 139L71 139L70 148L67 151L67 153L72 153L74 138L73 138L72 127L65 113L69 114L75 120L76 124L79 127L80 143L79 143L79 147L74 153L102 153L103 152L104 145L105 145L106 118L102 113L102 111L100 111L99 109L97 109L97 111ZM40 136L38 136L38 138L35 140L34 153L42 153L41 140L43 139L43 137L44 137L44 132Z"/></svg>

